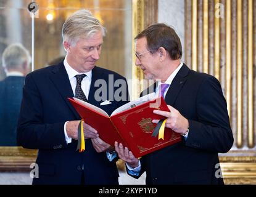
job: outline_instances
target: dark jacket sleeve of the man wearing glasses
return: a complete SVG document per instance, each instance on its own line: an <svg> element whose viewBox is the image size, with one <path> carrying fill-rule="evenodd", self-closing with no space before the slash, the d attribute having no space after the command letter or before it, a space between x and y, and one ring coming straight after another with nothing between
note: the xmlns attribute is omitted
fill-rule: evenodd
<svg viewBox="0 0 256 197"><path fill-rule="evenodd" d="M186 145L208 151L226 153L233 145L226 100L220 82L213 76L200 85L196 100L197 121L189 119Z"/></svg>

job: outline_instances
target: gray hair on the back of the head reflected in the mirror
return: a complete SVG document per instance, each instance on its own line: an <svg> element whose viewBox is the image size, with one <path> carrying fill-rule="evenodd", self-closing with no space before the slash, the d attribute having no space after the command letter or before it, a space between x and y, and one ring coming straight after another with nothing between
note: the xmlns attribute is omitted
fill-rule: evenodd
<svg viewBox="0 0 256 197"><path fill-rule="evenodd" d="M20 43L10 44L2 54L2 66L6 69L17 68L23 63L31 62L30 53Z"/></svg>

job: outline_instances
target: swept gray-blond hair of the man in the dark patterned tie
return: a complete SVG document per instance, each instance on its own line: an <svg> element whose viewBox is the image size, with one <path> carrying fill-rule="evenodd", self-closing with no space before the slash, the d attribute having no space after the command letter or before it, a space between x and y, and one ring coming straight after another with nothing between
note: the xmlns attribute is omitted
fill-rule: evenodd
<svg viewBox="0 0 256 197"><path fill-rule="evenodd" d="M73 46L80 38L89 38L97 31L105 36L105 28L89 10L78 10L70 15L62 26L63 41Z"/></svg>

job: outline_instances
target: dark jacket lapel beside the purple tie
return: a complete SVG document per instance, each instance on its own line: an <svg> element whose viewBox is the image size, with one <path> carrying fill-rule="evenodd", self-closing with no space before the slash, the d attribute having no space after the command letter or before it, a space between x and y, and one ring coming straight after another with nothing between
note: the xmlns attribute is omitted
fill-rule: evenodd
<svg viewBox="0 0 256 197"><path fill-rule="evenodd" d="M180 90L182 89L183 85L187 80L187 76L189 73L189 68L185 64L181 67L180 71L176 74L175 78L171 82L171 85L165 95L165 101L168 105L173 105L178 96Z"/></svg>

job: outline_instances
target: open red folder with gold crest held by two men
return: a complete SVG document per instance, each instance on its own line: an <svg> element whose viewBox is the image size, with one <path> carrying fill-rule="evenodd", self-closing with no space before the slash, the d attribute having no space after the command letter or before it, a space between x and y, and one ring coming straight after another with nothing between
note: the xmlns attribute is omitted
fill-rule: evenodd
<svg viewBox="0 0 256 197"><path fill-rule="evenodd" d="M180 142L181 136L169 128L165 128L164 138L152 137L156 124L152 119L162 119L153 110L169 111L162 97L138 98L117 108L109 117L107 113L90 103L78 98L68 98L85 123L98 131L104 142L114 147L115 141L128 147L136 157L141 157L152 151Z"/></svg>

